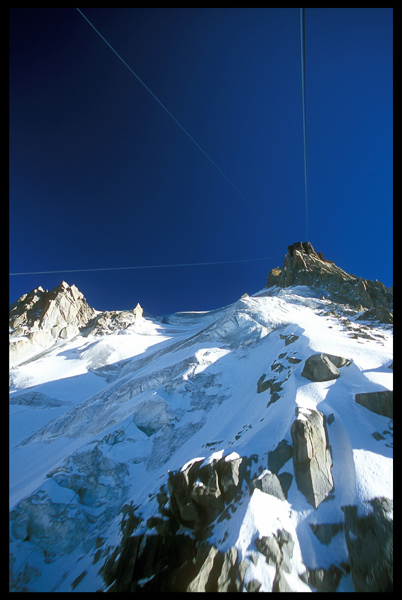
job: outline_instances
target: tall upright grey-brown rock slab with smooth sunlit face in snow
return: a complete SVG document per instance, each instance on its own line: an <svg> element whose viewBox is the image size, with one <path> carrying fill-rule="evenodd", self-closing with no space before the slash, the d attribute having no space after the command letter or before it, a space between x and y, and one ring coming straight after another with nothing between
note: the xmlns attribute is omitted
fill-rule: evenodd
<svg viewBox="0 0 402 600"><path fill-rule="evenodd" d="M317 508L334 488L325 415L298 408L296 416L291 426L296 483L309 504Z"/></svg>

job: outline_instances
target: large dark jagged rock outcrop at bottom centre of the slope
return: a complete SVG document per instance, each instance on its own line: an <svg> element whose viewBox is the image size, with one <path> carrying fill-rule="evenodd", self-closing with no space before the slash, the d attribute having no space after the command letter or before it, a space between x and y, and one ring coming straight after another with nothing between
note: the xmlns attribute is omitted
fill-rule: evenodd
<svg viewBox="0 0 402 600"><path fill-rule="evenodd" d="M120 547L107 559L102 575L110 592L240 592L248 569L247 561L239 563L235 547L221 552L205 539L205 527L227 502L233 502L246 475L245 457L229 455L203 464L198 459L169 474L157 501L161 517L147 521L147 533L123 532ZM284 499L279 478L272 473L262 485L266 493ZM286 474L289 475L289 474ZM291 477L291 476L290 476ZM203 491L197 492L198 488ZM254 490L250 486L251 493ZM218 493L219 490L219 493ZM169 492L169 494L167 493ZM203 498L200 501L200 498ZM207 500L208 498L208 500ZM169 509L167 503L169 500ZM213 505L215 505L213 507ZM140 521L136 521L137 525ZM179 525L193 529L195 536L179 534ZM156 535L150 530L156 531ZM276 591L291 591L282 572L290 573L294 541L290 533L278 530L272 538L256 541L257 548L269 564L277 569ZM273 561L273 562L272 562ZM258 581L247 582L247 591L258 591Z"/></svg>

